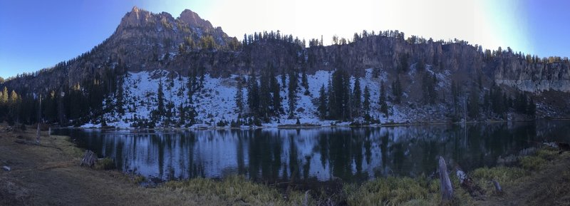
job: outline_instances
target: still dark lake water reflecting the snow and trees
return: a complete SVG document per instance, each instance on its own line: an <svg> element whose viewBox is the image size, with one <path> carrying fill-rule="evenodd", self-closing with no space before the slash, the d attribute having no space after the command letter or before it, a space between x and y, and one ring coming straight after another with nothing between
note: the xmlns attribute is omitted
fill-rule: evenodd
<svg viewBox="0 0 570 206"><path fill-rule="evenodd" d="M145 177L180 180L242 174L251 180L361 182L435 172L437 157L464 170L543 141L569 141L570 121L258 130L87 130L58 128L78 146Z"/></svg>

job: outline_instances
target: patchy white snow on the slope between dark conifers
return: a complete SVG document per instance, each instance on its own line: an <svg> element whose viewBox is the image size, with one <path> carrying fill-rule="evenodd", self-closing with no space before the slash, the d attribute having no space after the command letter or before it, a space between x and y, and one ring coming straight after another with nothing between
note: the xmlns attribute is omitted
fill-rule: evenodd
<svg viewBox="0 0 570 206"><path fill-rule="evenodd" d="M431 73L430 66L427 70ZM364 91L368 86L371 92L371 116L380 120L380 123L407 123L414 120L423 119L427 116L423 107L410 108L408 104L393 105L388 102L390 115L386 118L380 113L378 98L380 96L380 82L384 82L385 92L391 95L390 82L388 82L388 73L382 71L378 78L373 78L372 68L366 69L366 76L361 78L361 89ZM314 125L348 125L349 122L341 123L333 120L320 120L317 114L318 91L321 86L327 88L328 81L331 78L332 71L316 71L314 75L307 75L309 81L309 94L305 95L305 88L301 86L301 76L299 75L299 88L296 93L296 108L294 110L294 118L289 118L288 106L288 89L281 85L281 76L276 78L281 85L281 105L285 113L279 118L274 118L271 123L264 123L265 127L276 127L278 125L293 125L299 118L301 123L309 123ZM436 73L439 86L444 87L448 84L446 80L449 73ZM229 78L212 78L208 74L204 76L203 88L192 96L192 105L197 112L197 124L192 128L208 128L214 127L220 120L230 122L237 119L237 106L235 96L237 91L236 76ZM248 78L246 76L246 78ZM169 73L169 71L141 71L138 73L129 72L123 83L124 90L124 115L120 115L113 111L105 114L107 125L117 128L131 128L135 119L150 119L152 110L157 110L157 91L159 83L162 83L162 91L164 93L165 105L172 103L174 105L172 122L178 122L178 108L180 105L190 105L190 99L187 91L187 77L179 76L177 73ZM289 82L289 77L286 78ZM354 78L351 78L354 83ZM244 105L247 107L247 88L244 86ZM352 89L351 89L352 90ZM116 104L116 98L111 96L111 101L105 101L111 105ZM163 125L163 121L157 122L157 127ZM83 127L100 127L100 123L88 123ZM183 125L182 125L183 127Z"/></svg>

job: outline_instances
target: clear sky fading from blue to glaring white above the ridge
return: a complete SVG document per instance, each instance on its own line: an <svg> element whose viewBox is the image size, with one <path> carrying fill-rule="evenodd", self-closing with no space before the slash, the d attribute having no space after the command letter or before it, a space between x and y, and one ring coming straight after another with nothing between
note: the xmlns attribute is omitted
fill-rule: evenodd
<svg viewBox="0 0 570 206"><path fill-rule="evenodd" d="M195 11L229 36L277 31L330 44L333 35L399 30L483 48L570 56L566 0L0 0L0 77L38 71L108 38L133 6Z"/></svg>

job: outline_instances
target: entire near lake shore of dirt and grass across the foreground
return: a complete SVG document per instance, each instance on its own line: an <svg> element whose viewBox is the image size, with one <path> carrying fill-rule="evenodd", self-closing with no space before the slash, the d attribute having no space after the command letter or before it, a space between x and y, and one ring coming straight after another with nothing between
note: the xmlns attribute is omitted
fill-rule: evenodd
<svg viewBox="0 0 570 206"><path fill-rule="evenodd" d="M84 150L65 136L35 130L6 131L0 125L0 205L440 205L439 180L432 177L382 177L341 185L333 192L277 188L244 177L197 178L141 187L140 178L118 170L80 167ZM435 163L434 163L435 164ZM472 197L451 174L455 199L450 205L569 205L570 153L541 149L517 158L515 167L468 172L484 191ZM450 167L451 169L451 167ZM497 180L504 192L494 192ZM298 188L297 188L298 189Z"/></svg>

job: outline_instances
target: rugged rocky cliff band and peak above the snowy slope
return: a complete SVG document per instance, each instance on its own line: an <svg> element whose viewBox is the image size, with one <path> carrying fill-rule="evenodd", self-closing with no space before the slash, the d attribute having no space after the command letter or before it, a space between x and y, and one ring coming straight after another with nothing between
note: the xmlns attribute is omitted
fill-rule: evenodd
<svg viewBox="0 0 570 206"><path fill-rule="evenodd" d="M268 65L276 68L276 74L291 70L315 74L346 69L353 76L364 76L365 70L372 68L382 74L386 85L394 81L395 76L403 78L404 92L409 93L410 100L418 102L416 90L422 89L422 77L415 68L425 63L430 72L448 78L438 88L441 103L450 101L451 81L464 88L481 83L484 90L497 84L509 96L518 91L536 96L544 105L539 107L543 116L570 114L565 106L570 102L568 61L531 63L512 52L489 56L466 43L409 43L398 35L366 36L345 45L309 48L269 39L254 41L235 51L194 48L179 53L178 46L185 38L198 42L206 35L221 46L235 40L190 10L175 19L164 12L152 14L135 7L123 17L113 35L93 50L54 68L13 78L4 86L19 93L47 93L98 79L109 70L124 73L161 69L182 76L199 70L215 78L252 71L259 74Z"/></svg>

